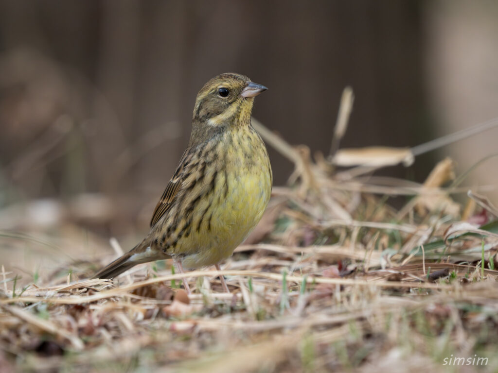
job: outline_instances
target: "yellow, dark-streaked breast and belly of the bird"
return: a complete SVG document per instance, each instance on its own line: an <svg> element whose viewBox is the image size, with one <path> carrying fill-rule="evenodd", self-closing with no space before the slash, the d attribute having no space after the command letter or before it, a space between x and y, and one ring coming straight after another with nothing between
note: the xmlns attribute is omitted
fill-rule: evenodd
<svg viewBox="0 0 498 373"><path fill-rule="evenodd" d="M193 219L196 229L182 240L185 268L219 263L232 255L261 219L271 194L272 173L264 143L251 128L219 142L219 167L212 190Z"/></svg>

